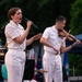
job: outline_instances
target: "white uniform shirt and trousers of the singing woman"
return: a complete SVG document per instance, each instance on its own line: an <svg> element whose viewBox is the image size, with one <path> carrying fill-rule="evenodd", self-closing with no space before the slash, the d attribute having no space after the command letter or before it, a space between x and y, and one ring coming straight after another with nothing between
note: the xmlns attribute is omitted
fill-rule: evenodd
<svg viewBox="0 0 82 82"><path fill-rule="evenodd" d="M26 39L22 44L17 44L13 38L21 36L24 33L24 28L20 24L16 25L13 21L10 21L5 26L4 33L8 43L8 52L5 54L8 82L22 82Z"/></svg>

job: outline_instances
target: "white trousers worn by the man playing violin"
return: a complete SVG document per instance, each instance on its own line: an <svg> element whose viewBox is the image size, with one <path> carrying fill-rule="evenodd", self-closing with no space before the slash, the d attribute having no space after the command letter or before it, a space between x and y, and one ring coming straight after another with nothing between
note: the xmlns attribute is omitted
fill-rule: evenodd
<svg viewBox="0 0 82 82"><path fill-rule="evenodd" d="M45 51L43 68L48 71L44 73L45 82L62 82L62 63L60 55Z"/></svg>

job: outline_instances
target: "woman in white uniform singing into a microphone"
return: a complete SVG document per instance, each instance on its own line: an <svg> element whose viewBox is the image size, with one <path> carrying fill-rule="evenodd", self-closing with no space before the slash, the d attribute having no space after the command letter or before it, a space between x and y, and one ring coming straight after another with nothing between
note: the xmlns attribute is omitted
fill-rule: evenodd
<svg viewBox="0 0 82 82"><path fill-rule="evenodd" d="M11 8L8 12L10 22L7 24L4 34L8 43L8 51L5 54L5 66L8 70L8 82L22 82L25 47L34 40L39 39L42 34L37 34L26 40L31 30L32 21L26 23L26 30L20 24L22 22L22 10L20 8Z"/></svg>

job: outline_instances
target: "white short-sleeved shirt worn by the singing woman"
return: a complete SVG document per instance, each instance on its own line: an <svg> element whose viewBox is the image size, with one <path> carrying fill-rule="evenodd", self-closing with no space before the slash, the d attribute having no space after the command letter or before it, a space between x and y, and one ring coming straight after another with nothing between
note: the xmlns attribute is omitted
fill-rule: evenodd
<svg viewBox="0 0 82 82"><path fill-rule="evenodd" d="M5 37L9 49L22 49L26 47L26 39L22 44L15 43L13 39L17 36L21 36L24 33L24 28L21 24L15 24L13 21L5 26Z"/></svg>

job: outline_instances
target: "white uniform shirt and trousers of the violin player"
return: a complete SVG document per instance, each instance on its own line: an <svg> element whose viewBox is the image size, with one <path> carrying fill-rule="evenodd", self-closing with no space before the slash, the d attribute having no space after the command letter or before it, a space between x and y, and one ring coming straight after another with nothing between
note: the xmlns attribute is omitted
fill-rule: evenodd
<svg viewBox="0 0 82 82"><path fill-rule="evenodd" d="M54 45L57 49L60 49L62 39L58 36L58 31L55 26L47 27L43 34L51 45ZM48 71L48 73L44 73L45 82L62 82L62 63L61 57L59 55L55 55L56 51L44 45L44 56L43 56L43 68Z"/></svg>

